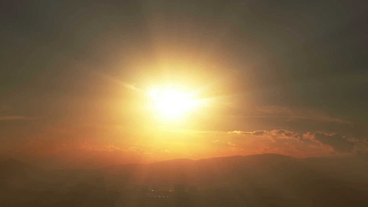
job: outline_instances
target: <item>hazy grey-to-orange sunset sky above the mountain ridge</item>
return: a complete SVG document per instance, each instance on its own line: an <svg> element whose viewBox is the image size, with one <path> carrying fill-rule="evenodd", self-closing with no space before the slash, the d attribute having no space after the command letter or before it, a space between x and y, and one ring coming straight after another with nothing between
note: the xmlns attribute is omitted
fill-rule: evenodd
<svg viewBox="0 0 368 207"><path fill-rule="evenodd" d="M367 4L5 1L0 160L366 153ZM167 116L165 90L185 110Z"/></svg>

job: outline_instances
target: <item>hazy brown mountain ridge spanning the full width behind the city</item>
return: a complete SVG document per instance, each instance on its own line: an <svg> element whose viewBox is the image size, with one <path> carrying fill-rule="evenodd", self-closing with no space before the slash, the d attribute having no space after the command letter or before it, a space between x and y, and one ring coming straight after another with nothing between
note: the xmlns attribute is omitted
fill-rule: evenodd
<svg viewBox="0 0 368 207"><path fill-rule="evenodd" d="M98 169L27 170L28 168L18 168L18 165L27 166L14 160L0 162L0 181L18 187L32 182L62 182L66 186L75 186L80 182L95 185L96 178L102 176L107 189L116 190L131 189L140 183L158 185L160 189L167 190L172 189L176 183L183 183L185 186L197 185L200 189L265 185L298 188L304 185L303 183L315 180L342 182L341 185L345 185L344 182L351 185L356 182L368 185L368 161L360 157L301 159L270 153L199 160L172 159L148 164L112 165ZM16 170L12 169L13 166Z"/></svg>

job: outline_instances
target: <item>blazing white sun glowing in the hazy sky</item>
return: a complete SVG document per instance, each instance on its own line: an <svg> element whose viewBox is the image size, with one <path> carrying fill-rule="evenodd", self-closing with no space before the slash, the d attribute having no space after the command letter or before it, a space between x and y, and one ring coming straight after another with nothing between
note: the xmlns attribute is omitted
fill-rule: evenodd
<svg viewBox="0 0 368 207"><path fill-rule="evenodd" d="M194 93L185 93L175 88L156 88L151 91L150 95L154 99L157 112L170 119L183 116L185 112L197 105L197 101L193 100Z"/></svg>

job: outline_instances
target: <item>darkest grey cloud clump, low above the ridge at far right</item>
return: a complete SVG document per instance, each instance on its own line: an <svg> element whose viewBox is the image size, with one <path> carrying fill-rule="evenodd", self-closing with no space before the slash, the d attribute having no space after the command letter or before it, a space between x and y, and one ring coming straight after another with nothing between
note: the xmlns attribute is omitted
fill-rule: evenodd
<svg viewBox="0 0 368 207"><path fill-rule="evenodd" d="M330 145L336 152L352 152L354 150L354 142L348 141L340 133L326 134L317 131L313 134L313 137L322 144Z"/></svg>

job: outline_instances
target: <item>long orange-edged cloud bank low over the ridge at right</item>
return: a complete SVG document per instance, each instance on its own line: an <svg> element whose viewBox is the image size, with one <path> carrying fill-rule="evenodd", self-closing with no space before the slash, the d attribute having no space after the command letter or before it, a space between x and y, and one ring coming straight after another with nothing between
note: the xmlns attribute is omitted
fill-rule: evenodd
<svg viewBox="0 0 368 207"><path fill-rule="evenodd" d="M230 134L244 136L237 139L233 147L241 147L258 153L278 153L294 157L326 156L331 153L362 153L368 150L364 140L346 138L340 133L304 133L299 136L293 131L259 130L259 131L229 131ZM268 140L268 141L267 141ZM228 142L228 145L233 145ZM257 146L258 145L258 146ZM235 149L233 149L235 150Z"/></svg>

